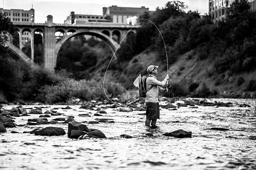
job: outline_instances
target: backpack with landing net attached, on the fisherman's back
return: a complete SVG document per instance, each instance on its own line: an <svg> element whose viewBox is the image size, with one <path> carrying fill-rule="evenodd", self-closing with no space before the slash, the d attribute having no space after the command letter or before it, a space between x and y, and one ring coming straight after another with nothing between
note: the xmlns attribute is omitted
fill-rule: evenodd
<svg viewBox="0 0 256 170"><path fill-rule="evenodd" d="M135 81L133 82L134 86L139 88L139 95L140 97L145 98L147 91L150 90L151 88L153 88L154 86L152 85L148 90L146 87L146 80L149 76L144 76L144 75L139 75L138 78L135 79Z"/></svg>

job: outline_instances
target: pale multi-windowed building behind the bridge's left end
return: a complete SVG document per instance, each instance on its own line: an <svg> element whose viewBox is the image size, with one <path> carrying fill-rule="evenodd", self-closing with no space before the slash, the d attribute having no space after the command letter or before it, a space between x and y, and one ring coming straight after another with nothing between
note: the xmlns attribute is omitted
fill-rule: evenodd
<svg viewBox="0 0 256 170"><path fill-rule="evenodd" d="M11 22L14 23L35 23L35 10L33 8L28 11L18 9L5 10L0 8L0 12L5 14L8 18L11 19ZM25 31L20 37L22 48L27 41L30 41L31 34L28 31Z"/></svg>

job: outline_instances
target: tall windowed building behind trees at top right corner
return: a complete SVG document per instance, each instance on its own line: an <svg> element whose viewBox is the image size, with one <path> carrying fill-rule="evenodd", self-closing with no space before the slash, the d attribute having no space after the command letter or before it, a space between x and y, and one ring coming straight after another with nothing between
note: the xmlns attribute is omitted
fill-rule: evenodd
<svg viewBox="0 0 256 170"><path fill-rule="evenodd" d="M209 0L209 15L212 22L225 21L227 18L227 8L234 2L234 0ZM256 0L248 0L251 10L256 10Z"/></svg>

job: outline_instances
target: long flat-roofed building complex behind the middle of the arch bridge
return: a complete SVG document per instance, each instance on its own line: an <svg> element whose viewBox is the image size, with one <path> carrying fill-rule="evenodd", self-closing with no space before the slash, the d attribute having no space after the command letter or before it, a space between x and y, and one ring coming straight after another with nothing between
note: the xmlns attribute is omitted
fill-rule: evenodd
<svg viewBox="0 0 256 170"><path fill-rule="evenodd" d="M85 24L87 22L111 22L111 23L125 23L127 18L139 16L148 8L131 8L131 7L103 7L103 15L82 15L75 14L74 11L70 13L64 24Z"/></svg>

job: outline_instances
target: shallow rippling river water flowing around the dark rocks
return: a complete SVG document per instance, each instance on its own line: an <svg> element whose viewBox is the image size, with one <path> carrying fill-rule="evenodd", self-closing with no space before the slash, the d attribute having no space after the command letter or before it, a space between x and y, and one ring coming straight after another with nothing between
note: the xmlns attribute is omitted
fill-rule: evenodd
<svg viewBox="0 0 256 170"><path fill-rule="evenodd" d="M16 126L0 133L0 169L3 170L52 170L52 169L115 169L115 170L254 170L256 169L256 102L253 99L208 99L211 102L232 102L232 107L179 107L177 110L161 109L158 128L144 126L145 111L115 112L94 116L95 110L59 109L61 116L74 116L78 122L95 121L95 118L111 118L115 123L86 124L99 129L106 139L70 139L63 136L36 136L24 131L47 126L60 127L68 132L68 124ZM239 107L239 104L251 107ZM175 103L174 103L175 105ZM4 105L4 109L15 106ZM38 106L38 105L37 105ZM67 106L67 105L65 105ZM56 105L42 106L42 112ZM31 108L35 106L23 106ZM29 112L29 109L27 109ZM88 113L91 117L78 116ZM26 124L38 114L15 117L18 125ZM227 128L229 131L210 130ZM162 136L177 129L192 132L192 138L178 139ZM11 133L16 131L19 133ZM146 133L154 135L147 136ZM122 134L133 138L119 137ZM251 136L251 138L250 138Z"/></svg>

